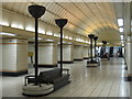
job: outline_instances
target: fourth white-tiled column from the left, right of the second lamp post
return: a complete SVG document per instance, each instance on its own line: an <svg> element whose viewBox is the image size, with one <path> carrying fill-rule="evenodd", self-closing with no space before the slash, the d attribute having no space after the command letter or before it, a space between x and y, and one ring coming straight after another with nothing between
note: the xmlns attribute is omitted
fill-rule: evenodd
<svg viewBox="0 0 132 99"><path fill-rule="evenodd" d="M74 45L74 61L82 61L82 59L84 59L84 46Z"/></svg>

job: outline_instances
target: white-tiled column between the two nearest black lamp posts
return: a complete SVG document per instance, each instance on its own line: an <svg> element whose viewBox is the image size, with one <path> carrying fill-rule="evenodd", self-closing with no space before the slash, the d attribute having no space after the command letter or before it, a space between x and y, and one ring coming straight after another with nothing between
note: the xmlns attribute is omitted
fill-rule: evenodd
<svg viewBox="0 0 132 99"><path fill-rule="evenodd" d="M38 44L38 67L57 66L57 44L40 43Z"/></svg>

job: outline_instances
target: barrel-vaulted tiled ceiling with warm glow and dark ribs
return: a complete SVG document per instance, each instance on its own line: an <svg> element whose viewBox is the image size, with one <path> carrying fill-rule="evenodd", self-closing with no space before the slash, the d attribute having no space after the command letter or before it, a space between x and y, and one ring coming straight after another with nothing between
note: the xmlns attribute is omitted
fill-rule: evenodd
<svg viewBox="0 0 132 99"><path fill-rule="evenodd" d="M55 25L55 19L68 19L65 29L87 36L94 33L99 36L100 41L108 41L111 44L120 43L120 32L118 19L123 19L124 1L121 2L44 2L29 0L30 2L2 2L2 8L31 16L28 7L36 3L46 8L45 14L41 21ZM69 0L68 0L69 1ZM102 0L105 1L105 0ZM109 0L110 1L110 0Z"/></svg>

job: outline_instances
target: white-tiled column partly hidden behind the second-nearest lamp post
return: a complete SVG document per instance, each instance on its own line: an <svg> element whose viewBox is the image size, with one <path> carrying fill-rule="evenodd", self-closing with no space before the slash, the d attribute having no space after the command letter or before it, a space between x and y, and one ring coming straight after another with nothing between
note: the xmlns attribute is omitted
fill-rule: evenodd
<svg viewBox="0 0 132 99"><path fill-rule="evenodd" d="M61 48L59 47L61 46L58 45L58 63L61 61ZM73 48L74 46L72 44L63 44L63 63L64 64L74 63Z"/></svg>

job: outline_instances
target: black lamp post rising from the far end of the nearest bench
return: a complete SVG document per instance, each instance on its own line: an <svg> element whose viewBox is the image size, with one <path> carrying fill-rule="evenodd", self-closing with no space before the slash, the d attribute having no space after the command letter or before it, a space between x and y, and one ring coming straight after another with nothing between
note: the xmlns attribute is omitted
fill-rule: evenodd
<svg viewBox="0 0 132 99"><path fill-rule="evenodd" d="M55 23L61 28L61 76L63 75L63 28L67 23L67 19L56 19Z"/></svg>

